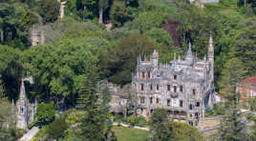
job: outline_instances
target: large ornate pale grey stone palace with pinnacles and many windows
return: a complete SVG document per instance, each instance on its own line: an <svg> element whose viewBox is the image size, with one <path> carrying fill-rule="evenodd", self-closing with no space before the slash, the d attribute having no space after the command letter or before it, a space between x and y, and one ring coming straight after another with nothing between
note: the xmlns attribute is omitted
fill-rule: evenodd
<svg viewBox="0 0 256 141"><path fill-rule="evenodd" d="M210 37L208 57L198 59L191 51L185 59L159 64L154 50L150 60L138 58L132 87L138 94L138 114L148 118L155 109L166 109L169 117L198 126L205 107L214 101L214 49Z"/></svg>

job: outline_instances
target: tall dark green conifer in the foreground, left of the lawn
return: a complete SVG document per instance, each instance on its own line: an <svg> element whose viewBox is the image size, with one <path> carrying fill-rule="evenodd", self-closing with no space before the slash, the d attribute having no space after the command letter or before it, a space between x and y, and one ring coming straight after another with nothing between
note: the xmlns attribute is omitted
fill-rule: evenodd
<svg viewBox="0 0 256 141"><path fill-rule="evenodd" d="M80 125L80 137L84 141L115 141L115 134L111 131L112 123L107 118L108 92L103 91L103 101L98 100L99 95L96 94L98 73L93 69L87 70L86 74L78 99L78 110L84 112Z"/></svg>

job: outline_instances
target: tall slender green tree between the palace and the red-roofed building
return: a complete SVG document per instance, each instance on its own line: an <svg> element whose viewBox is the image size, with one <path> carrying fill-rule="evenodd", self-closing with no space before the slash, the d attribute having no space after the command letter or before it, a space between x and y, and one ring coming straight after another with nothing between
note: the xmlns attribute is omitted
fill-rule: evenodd
<svg viewBox="0 0 256 141"><path fill-rule="evenodd" d="M226 64L224 71L224 90L227 91L227 111L221 121L220 139L223 141L241 141L246 139L245 122L242 121L242 112L239 109L240 94L236 91L238 83L245 77L243 63L232 58Z"/></svg>

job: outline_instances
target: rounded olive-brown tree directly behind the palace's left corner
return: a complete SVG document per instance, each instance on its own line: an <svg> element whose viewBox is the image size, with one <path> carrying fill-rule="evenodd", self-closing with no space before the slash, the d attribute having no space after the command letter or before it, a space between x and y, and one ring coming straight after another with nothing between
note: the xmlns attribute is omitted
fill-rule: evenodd
<svg viewBox="0 0 256 141"><path fill-rule="evenodd" d="M145 35L131 35L122 38L114 50L111 50L110 77L115 84L125 85L131 82L135 71L137 58L140 55L151 54L154 44Z"/></svg>

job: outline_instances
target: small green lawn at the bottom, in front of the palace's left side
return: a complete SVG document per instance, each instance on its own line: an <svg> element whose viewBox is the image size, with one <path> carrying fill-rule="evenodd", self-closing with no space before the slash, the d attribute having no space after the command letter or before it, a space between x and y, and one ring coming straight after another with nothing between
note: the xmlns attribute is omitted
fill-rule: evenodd
<svg viewBox="0 0 256 141"><path fill-rule="evenodd" d="M144 141L149 134L149 131L117 126L114 127L114 131L118 141Z"/></svg>

